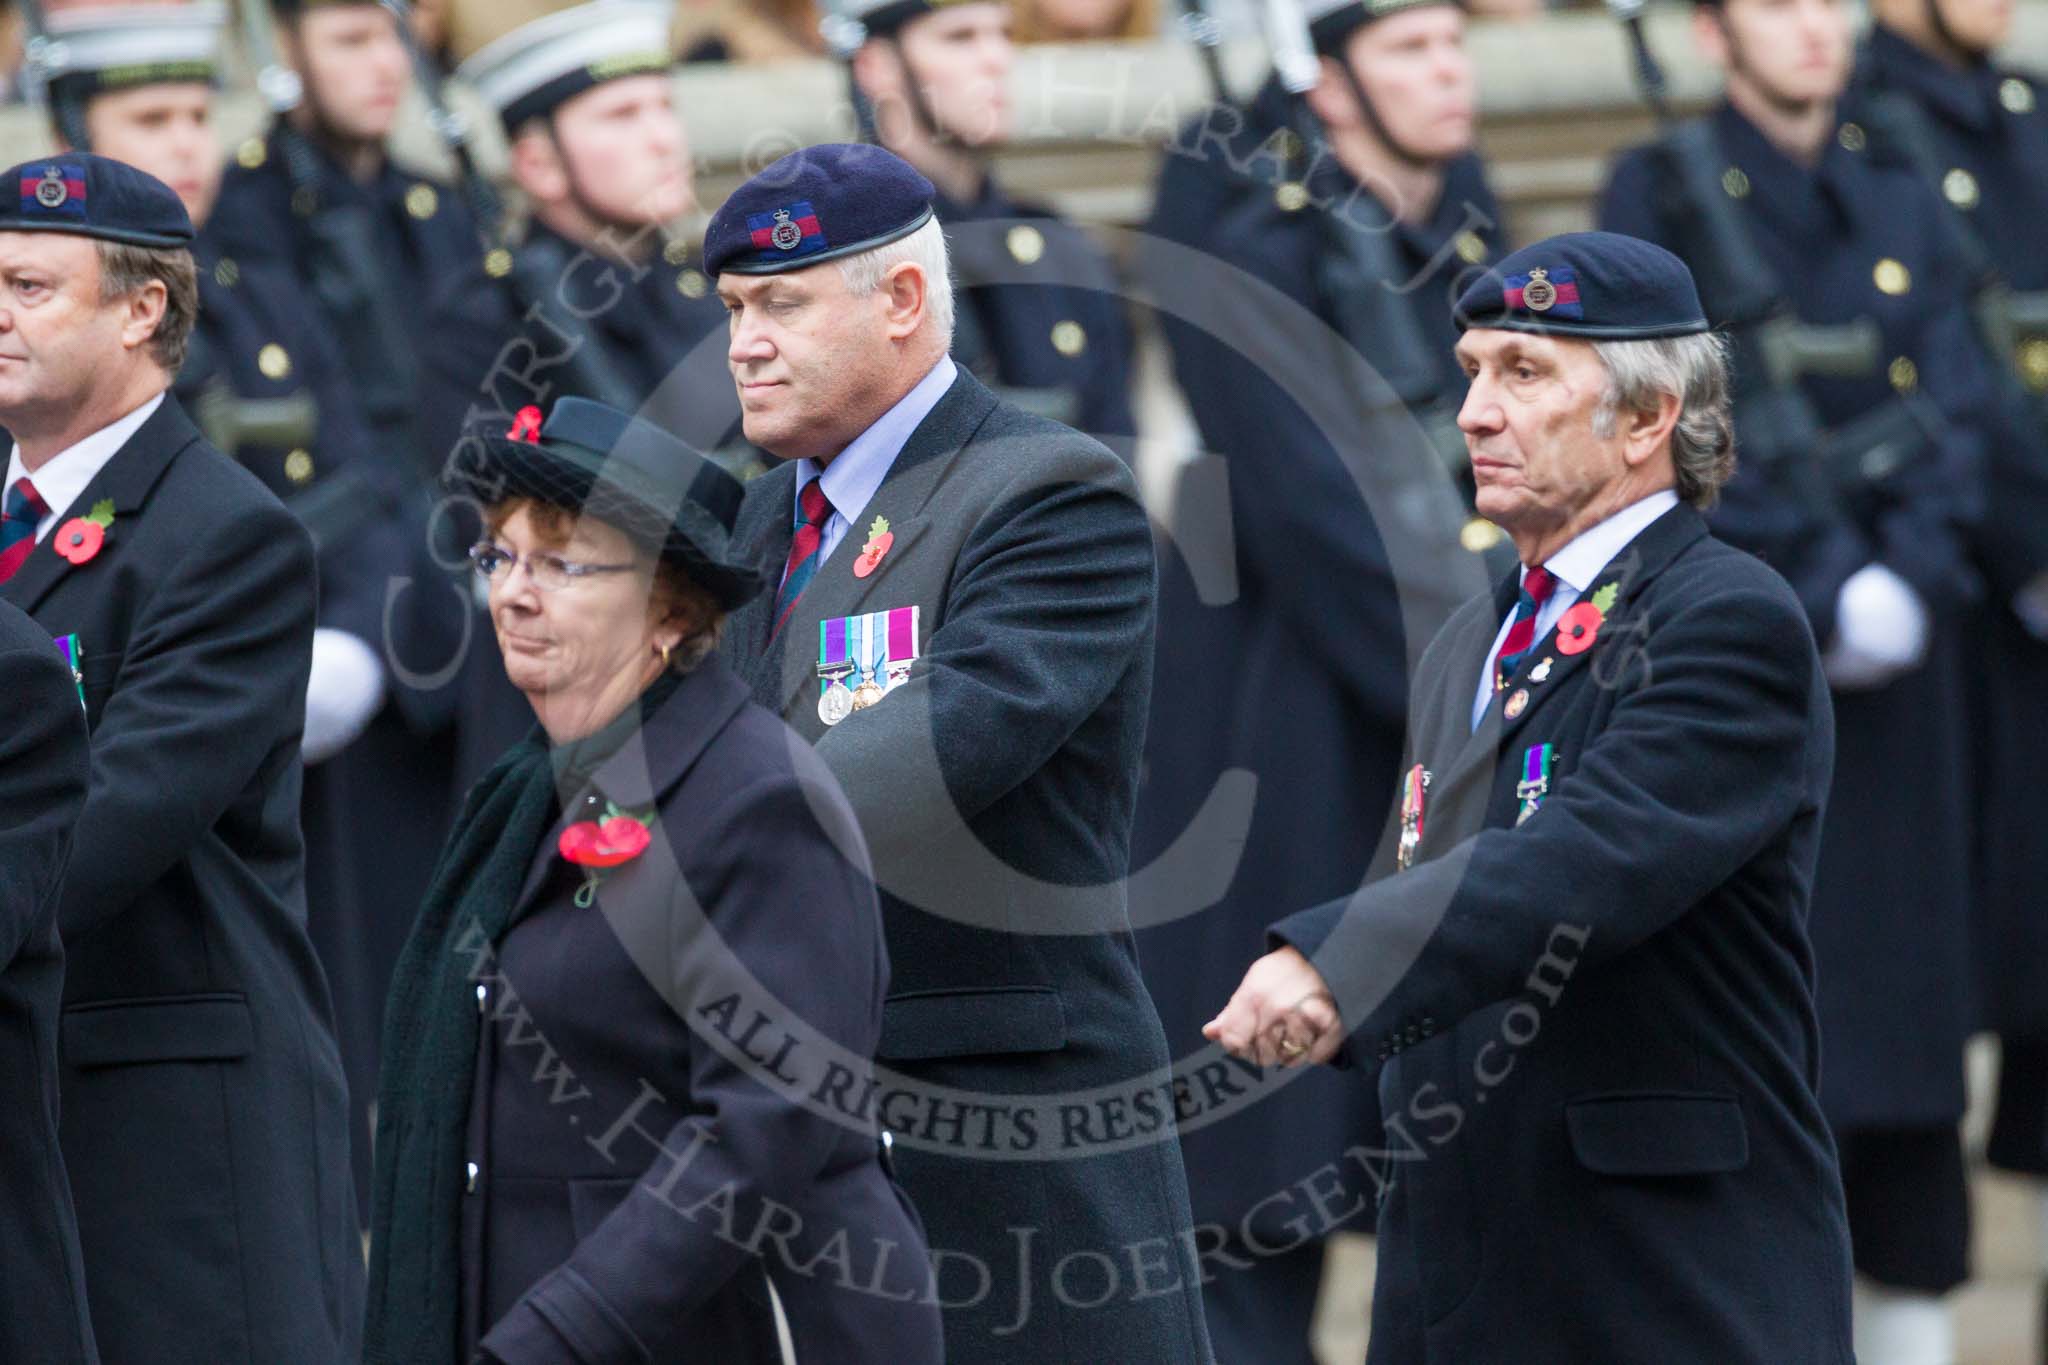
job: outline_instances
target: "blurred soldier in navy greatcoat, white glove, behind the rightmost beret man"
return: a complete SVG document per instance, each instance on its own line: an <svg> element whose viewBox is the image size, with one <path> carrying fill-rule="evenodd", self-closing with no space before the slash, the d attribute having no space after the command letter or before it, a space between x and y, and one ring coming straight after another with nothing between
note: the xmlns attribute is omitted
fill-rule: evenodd
<svg viewBox="0 0 2048 1365"><path fill-rule="evenodd" d="M1968 264L1972 227L1948 221L1917 168L1933 141L1849 86L1853 27L1845 0L1696 4L1694 49L1722 68L1724 98L1692 125L1698 151L1653 143L1616 158L1599 223L1677 252L1712 280L1710 317L1731 325L1749 458L1714 530L1792 583L1835 694L1812 945L1855 1355L1946 1365L1948 1295L1970 1277L1964 1044L1985 1023L1978 986L2007 976L1972 970L1974 931L1989 927L1972 923L1972 890L1987 872L2025 878L1999 851L2009 833L1972 819L1991 814L1980 800L2005 763L1980 741L1995 729L2011 757L2028 749L1997 716L2009 686L2040 712L2023 665L2003 659L1995 675L1976 651L1997 628L1989 616L2032 579L2025 540L2042 512L2011 473L2034 458L2038 430L2001 413L1968 297L1991 270ZM1978 227L1991 213L1972 213ZM2032 215L2025 233L2038 256ZM1767 354L1763 309L1837 348L1862 329L1847 350L1862 356ZM1786 420L1788 407L1804 413ZM2038 821L2025 825L2040 845ZM2023 921L2040 919L2038 896L2021 894ZM2005 956L2025 962L2025 941Z"/></svg>

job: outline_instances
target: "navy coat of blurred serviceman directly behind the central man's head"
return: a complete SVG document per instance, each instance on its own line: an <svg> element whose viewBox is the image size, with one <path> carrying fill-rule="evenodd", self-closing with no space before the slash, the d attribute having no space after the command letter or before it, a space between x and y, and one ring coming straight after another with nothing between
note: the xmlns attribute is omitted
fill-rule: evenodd
<svg viewBox="0 0 2048 1365"><path fill-rule="evenodd" d="M1006 399L1130 458L1130 319L1102 248L993 174L973 203L940 194L932 207L952 256L954 358Z"/></svg>

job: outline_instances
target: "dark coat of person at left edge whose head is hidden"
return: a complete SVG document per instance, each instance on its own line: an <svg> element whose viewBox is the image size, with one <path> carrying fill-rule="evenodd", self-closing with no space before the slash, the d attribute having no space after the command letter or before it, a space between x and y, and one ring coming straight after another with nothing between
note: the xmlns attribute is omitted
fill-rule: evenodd
<svg viewBox="0 0 2048 1365"><path fill-rule="evenodd" d="M57 1150L57 896L90 759L49 632L0 602L0 1359L92 1365L78 1218Z"/></svg>

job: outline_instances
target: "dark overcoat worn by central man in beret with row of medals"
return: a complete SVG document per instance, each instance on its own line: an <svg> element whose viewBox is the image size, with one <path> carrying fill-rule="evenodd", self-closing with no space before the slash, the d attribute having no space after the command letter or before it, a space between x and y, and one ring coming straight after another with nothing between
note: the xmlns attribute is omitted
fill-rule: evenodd
<svg viewBox="0 0 2048 1365"><path fill-rule="evenodd" d="M735 542L758 563L786 561L795 477L782 465L748 485ZM893 548L858 577L858 532L877 516ZM940 1275L948 1359L1208 1359L1167 1111L1153 1111L1151 1140L1114 1152L1096 1150L1108 1128L1085 1107L1081 1130L999 1128L993 1154L975 1126L961 1142L920 1136L926 1087L1001 1105L1165 1081L1124 900L1153 581L1122 463L963 368L780 636L768 639L774 591L727 622L754 698L817 743L874 855L891 960L877 1060L907 1095L885 1119L934 1254L954 1252ZM924 636L907 681L825 729L819 622L903 606ZM1065 1295L1051 1283L1077 1252L1157 1269L1145 1291L1118 1271L1118 1291L1081 1308L1102 1293L1100 1269ZM973 1302L961 1254L993 1277Z"/></svg>

